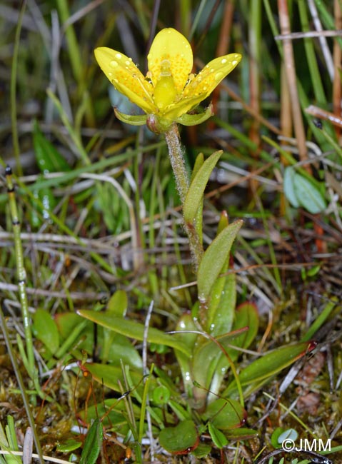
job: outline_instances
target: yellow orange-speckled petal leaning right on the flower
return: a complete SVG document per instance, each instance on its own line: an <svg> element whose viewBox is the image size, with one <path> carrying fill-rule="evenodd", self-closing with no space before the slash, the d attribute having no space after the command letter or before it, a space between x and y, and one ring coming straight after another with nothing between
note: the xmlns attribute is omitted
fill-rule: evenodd
<svg viewBox="0 0 342 464"><path fill-rule="evenodd" d="M218 84L241 61L242 56L233 53L210 61L197 76L188 83L184 90L184 96L197 96L198 102L206 99Z"/></svg>

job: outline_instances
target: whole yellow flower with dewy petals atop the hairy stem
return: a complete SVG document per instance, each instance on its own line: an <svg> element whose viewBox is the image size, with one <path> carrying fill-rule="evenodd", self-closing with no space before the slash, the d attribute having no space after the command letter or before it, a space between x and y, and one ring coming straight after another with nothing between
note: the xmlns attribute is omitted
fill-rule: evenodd
<svg viewBox="0 0 342 464"><path fill-rule="evenodd" d="M236 53L220 56L195 76L191 74L191 46L172 28L163 29L154 38L147 56L149 71L146 77L131 58L119 51L99 47L94 53L116 90L140 106L147 115L129 116L116 110L116 116L134 125L147 122L156 132L167 130L173 121L192 126L210 117L211 106L202 114L189 115L187 112L206 99L241 60L241 55Z"/></svg>

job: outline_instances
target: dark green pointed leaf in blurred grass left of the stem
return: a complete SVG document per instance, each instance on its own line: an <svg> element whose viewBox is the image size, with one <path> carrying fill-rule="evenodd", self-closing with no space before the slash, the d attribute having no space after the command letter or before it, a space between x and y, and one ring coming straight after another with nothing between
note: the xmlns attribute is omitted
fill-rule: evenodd
<svg viewBox="0 0 342 464"><path fill-rule="evenodd" d="M34 154L41 173L66 172L71 171L61 153L44 136L39 129L38 123L34 123Z"/></svg>

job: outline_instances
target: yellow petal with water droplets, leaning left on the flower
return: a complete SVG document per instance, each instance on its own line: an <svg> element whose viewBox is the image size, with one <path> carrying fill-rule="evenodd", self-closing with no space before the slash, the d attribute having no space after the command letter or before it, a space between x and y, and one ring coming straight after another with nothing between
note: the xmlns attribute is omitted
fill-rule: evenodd
<svg viewBox="0 0 342 464"><path fill-rule="evenodd" d="M94 50L96 61L111 84L146 113L155 112L153 87L131 58L105 46Z"/></svg>

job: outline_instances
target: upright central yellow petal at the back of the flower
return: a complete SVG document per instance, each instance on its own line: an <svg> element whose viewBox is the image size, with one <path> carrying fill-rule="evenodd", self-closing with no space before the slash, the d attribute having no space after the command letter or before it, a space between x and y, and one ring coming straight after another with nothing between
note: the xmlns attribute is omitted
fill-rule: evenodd
<svg viewBox="0 0 342 464"><path fill-rule="evenodd" d="M183 91L192 71L193 56L190 44L180 32L171 27L162 29L154 38L147 59L154 86L163 75L161 73L169 69L177 94Z"/></svg>

